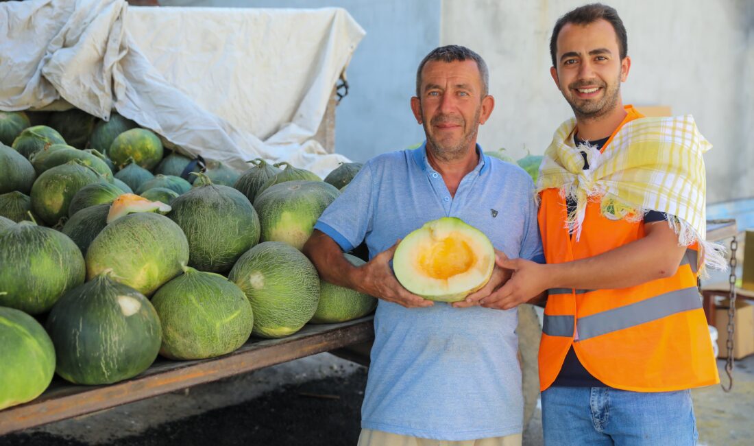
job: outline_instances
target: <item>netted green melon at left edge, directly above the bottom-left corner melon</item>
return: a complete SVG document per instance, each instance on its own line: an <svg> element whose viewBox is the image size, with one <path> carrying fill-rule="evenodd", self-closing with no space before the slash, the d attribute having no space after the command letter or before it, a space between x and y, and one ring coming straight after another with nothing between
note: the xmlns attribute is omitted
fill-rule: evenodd
<svg viewBox="0 0 754 446"><path fill-rule="evenodd" d="M30 222L0 232L0 306L37 315L84 275L81 251L62 232Z"/></svg>

